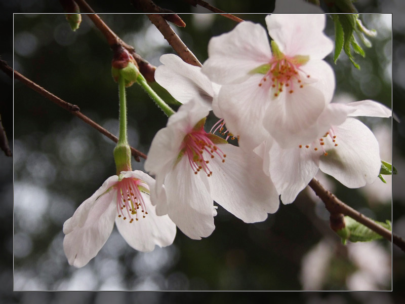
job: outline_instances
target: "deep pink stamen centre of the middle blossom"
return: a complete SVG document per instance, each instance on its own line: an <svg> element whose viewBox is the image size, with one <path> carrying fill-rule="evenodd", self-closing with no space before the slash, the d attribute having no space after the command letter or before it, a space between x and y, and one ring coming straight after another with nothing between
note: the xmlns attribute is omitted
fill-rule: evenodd
<svg viewBox="0 0 405 304"><path fill-rule="evenodd" d="M209 168L210 159L219 157L222 162L225 162L226 155L218 148L210 137L213 137L210 133L204 131L204 125L197 130L192 129L183 139L181 145L181 151L188 158L188 162L197 174L203 170L207 176L212 175L212 171Z"/></svg>

